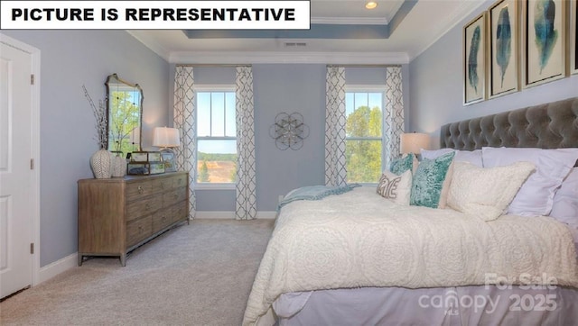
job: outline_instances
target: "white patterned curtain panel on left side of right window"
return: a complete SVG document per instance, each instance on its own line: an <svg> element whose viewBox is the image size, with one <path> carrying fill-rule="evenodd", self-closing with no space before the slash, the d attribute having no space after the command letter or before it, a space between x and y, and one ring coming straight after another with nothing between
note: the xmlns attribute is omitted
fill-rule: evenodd
<svg viewBox="0 0 578 326"><path fill-rule="evenodd" d="M325 185L343 186L345 161L345 68L327 67L325 110Z"/></svg>

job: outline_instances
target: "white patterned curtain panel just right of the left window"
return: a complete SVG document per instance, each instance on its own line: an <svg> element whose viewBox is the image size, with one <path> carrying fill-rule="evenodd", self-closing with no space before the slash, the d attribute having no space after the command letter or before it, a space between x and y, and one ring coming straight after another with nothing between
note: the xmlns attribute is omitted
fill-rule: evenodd
<svg viewBox="0 0 578 326"><path fill-rule="evenodd" d="M256 218L255 120L253 118L253 70L237 68L237 220Z"/></svg>

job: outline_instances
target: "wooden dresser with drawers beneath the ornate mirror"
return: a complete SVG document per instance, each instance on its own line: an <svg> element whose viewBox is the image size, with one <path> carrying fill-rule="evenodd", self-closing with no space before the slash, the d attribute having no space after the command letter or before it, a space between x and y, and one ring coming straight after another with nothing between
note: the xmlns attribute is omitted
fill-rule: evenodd
<svg viewBox="0 0 578 326"><path fill-rule="evenodd" d="M189 174L79 180L79 266L86 256L118 256L189 222Z"/></svg>

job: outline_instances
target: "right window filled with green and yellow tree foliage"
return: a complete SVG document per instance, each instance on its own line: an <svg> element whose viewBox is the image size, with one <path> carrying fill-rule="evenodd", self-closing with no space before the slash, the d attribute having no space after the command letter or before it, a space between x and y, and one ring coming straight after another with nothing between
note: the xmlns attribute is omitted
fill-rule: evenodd
<svg viewBox="0 0 578 326"><path fill-rule="evenodd" d="M383 170L384 90L350 88L345 93L347 181L377 183Z"/></svg>

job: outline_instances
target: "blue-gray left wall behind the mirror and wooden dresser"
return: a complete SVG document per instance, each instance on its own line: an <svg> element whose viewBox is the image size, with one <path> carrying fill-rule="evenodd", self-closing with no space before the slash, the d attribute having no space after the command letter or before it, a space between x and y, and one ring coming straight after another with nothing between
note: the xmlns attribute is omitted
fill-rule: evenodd
<svg viewBox="0 0 578 326"><path fill-rule="evenodd" d="M144 89L143 144L154 126L168 122L169 64L124 31L2 31L41 50L41 266L77 251L77 181L93 177L89 158L98 149L93 100L117 73Z"/></svg>

